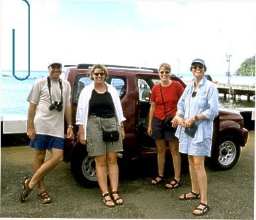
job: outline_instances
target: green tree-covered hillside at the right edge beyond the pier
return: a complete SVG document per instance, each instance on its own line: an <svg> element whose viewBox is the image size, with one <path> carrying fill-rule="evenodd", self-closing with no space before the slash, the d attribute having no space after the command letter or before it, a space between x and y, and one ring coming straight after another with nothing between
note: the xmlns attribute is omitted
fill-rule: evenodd
<svg viewBox="0 0 256 220"><path fill-rule="evenodd" d="M245 59L241 67L235 71L236 76L255 76L255 55Z"/></svg>

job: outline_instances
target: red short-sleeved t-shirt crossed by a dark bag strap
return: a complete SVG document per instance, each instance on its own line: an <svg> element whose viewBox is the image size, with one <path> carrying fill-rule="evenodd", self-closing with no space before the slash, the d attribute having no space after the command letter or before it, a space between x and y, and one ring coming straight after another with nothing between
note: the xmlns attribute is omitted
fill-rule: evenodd
<svg viewBox="0 0 256 220"><path fill-rule="evenodd" d="M165 120L166 115L175 115L177 112L177 103L179 98L184 92L183 86L177 82L172 81L169 86L161 86L163 93L163 100L165 104L165 109L163 107L163 101L161 98L160 84L153 86L150 101L155 102L156 107L155 111L153 111L153 115L157 117L157 119Z"/></svg>

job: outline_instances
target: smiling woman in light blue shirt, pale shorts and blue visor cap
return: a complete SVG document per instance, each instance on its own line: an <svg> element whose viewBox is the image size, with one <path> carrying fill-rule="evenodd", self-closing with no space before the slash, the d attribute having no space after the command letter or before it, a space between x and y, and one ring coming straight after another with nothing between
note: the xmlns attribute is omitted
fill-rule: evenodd
<svg viewBox="0 0 256 220"><path fill-rule="evenodd" d="M179 99L178 111L173 119L173 126L179 124L175 135L179 138L179 151L188 154L191 175L191 192L181 195L179 199L200 199L193 215L204 215L210 209L204 158L210 157L213 121L218 115L218 90L204 78L206 65L202 59L192 61L191 72L194 79ZM185 132L192 124L198 125L193 138Z"/></svg>

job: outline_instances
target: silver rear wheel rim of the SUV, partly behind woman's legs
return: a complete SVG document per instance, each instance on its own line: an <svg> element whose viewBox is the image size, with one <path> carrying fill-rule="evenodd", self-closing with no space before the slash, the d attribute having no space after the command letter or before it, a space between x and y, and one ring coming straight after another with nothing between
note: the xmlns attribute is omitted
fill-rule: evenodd
<svg viewBox="0 0 256 220"><path fill-rule="evenodd" d="M97 181L94 157L85 157L82 164L82 171L86 179Z"/></svg>

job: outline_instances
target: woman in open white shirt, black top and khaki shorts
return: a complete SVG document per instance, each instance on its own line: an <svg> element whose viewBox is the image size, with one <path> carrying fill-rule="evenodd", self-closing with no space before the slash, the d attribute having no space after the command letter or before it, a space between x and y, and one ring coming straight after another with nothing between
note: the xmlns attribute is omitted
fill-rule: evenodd
<svg viewBox="0 0 256 220"><path fill-rule="evenodd" d="M107 207L122 205L123 200L118 192L117 154L122 151L125 120L118 92L105 82L107 69L95 65L91 69L93 84L86 86L77 106L76 124L79 126L79 141L87 145L89 156L95 157L97 180L102 191L103 202ZM103 130L115 132L116 139L103 140ZM108 133L109 134L109 133ZM110 192L107 185L107 167L110 180Z"/></svg>

